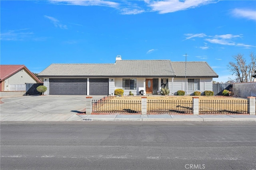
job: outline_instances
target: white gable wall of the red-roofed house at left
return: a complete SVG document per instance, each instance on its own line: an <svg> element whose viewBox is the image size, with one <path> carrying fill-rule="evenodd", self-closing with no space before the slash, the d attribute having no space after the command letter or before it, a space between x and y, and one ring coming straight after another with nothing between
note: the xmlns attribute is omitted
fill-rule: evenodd
<svg viewBox="0 0 256 170"><path fill-rule="evenodd" d="M4 80L4 91L9 91L10 85L24 85L25 83L36 83L36 80L26 70L22 69Z"/></svg>

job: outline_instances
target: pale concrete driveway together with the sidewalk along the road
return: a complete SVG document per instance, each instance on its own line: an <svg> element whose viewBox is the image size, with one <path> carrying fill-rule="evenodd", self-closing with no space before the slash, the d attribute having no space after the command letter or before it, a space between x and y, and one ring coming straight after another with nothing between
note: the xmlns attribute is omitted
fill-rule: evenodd
<svg viewBox="0 0 256 170"><path fill-rule="evenodd" d="M103 96L93 96L98 100ZM256 121L256 115L83 115L86 96L2 98L0 121Z"/></svg>

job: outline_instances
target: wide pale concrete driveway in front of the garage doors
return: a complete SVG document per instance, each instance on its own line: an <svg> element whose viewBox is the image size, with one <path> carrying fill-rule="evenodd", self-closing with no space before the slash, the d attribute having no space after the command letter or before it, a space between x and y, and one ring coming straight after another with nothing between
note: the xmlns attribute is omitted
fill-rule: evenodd
<svg viewBox="0 0 256 170"><path fill-rule="evenodd" d="M99 100L104 96L92 96ZM85 108L86 96L19 96L2 98L0 104L1 115L15 113L54 114L81 113Z"/></svg>

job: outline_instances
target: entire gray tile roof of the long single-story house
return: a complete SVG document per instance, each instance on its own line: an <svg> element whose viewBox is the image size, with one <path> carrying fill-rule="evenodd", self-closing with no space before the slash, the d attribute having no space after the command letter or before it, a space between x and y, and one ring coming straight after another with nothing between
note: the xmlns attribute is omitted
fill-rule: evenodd
<svg viewBox="0 0 256 170"><path fill-rule="evenodd" d="M189 62L187 62L188 64ZM201 63L201 62L199 62ZM196 64L193 67L193 64ZM188 68L200 68L190 72L194 76L218 76L210 66L194 62ZM174 71L175 70L175 71ZM182 76L182 62L170 60L118 60L114 64L51 64L38 76L112 76L112 77L174 77ZM178 74L177 74L178 73Z"/></svg>

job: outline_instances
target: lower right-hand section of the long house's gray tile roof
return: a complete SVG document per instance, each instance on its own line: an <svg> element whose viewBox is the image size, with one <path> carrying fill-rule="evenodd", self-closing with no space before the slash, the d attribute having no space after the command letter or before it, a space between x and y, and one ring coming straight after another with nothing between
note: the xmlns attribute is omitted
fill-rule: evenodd
<svg viewBox="0 0 256 170"><path fill-rule="evenodd" d="M185 67L188 77L218 77L218 74L203 61L172 62L176 75L184 77Z"/></svg>

